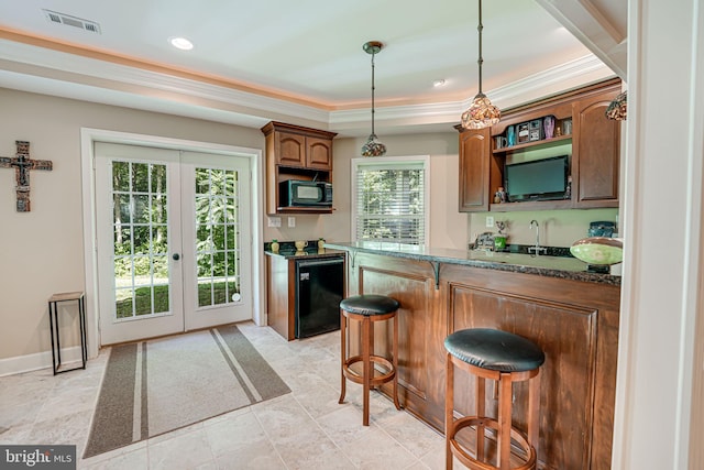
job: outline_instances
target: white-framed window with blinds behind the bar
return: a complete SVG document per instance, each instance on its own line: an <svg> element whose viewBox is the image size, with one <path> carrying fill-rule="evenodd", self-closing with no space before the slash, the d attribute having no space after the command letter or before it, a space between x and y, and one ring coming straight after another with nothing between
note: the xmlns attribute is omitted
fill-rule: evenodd
<svg viewBox="0 0 704 470"><path fill-rule="evenodd" d="M425 244L428 157L353 160L359 241Z"/></svg>

